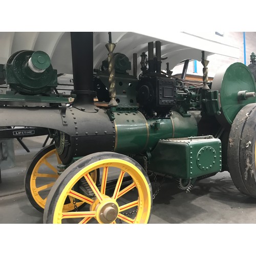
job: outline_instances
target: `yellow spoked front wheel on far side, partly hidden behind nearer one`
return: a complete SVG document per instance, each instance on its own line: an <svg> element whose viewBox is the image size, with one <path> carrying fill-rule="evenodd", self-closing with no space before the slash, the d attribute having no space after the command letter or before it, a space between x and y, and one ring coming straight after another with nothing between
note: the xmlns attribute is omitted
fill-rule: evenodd
<svg viewBox="0 0 256 256"><path fill-rule="evenodd" d="M40 212L44 212L48 194L58 179L57 164L61 164L55 145L49 145L39 151L32 159L25 175L25 191L30 203ZM92 172L92 179L97 181L96 170ZM83 203L78 202L77 207ZM63 211L74 209L74 200L69 197Z"/></svg>

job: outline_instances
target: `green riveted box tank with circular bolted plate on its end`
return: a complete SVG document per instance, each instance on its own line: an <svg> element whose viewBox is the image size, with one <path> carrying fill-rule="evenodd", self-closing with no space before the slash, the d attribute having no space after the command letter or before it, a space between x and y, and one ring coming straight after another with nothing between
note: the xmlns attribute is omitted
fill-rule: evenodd
<svg viewBox="0 0 256 256"><path fill-rule="evenodd" d="M148 169L168 176L193 179L220 172L221 141L216 138L160 140Z"/></svg>

